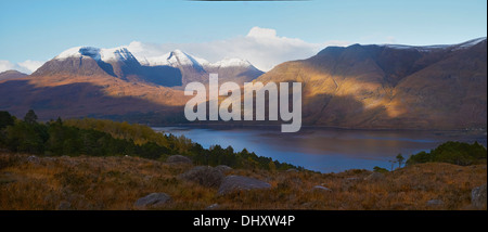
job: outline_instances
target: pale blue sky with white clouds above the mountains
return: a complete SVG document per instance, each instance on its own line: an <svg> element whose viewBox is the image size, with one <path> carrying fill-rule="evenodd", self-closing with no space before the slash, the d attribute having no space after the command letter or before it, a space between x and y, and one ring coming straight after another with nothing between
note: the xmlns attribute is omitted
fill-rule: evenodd
<svg viewBox="0 0 488 232"><path fill-rule="evenodd" d="M139 56L181 49L269 70L328 46L453 44L486 36L486 0L0 0L0 72L31 73L78 46L124 46Z"/></svg>

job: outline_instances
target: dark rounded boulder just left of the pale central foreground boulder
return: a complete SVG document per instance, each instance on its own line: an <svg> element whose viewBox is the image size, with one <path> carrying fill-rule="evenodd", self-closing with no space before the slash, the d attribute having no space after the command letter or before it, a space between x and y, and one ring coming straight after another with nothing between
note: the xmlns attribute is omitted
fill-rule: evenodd
<svg viewBox="0 0 488 232"><path fill-rule="evenodd" d="M218 188L224 178L222 171L209 166L194 167L180 177L208 188Z"/></svg>

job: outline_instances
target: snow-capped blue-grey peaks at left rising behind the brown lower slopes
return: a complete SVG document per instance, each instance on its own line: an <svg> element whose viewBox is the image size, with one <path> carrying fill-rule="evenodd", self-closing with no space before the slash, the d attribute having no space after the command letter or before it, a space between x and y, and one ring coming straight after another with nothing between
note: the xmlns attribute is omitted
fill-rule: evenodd
<svg viewBox="0 0 488 232"><path fill-rule="evenodd" d="M207 83L209 73L219 74L222 81L232 80L241 85L262 74L247 61L226 59L210 63L181 50L160 56L136 57L125 47L113 49L75 47L61 52L33 76L108 75L128 81L182 88L192 81Z"/></svg>

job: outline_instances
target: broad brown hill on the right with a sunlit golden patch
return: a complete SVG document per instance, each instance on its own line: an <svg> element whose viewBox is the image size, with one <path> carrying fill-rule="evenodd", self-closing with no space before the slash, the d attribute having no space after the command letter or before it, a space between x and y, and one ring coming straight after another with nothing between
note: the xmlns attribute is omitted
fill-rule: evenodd
<svg viewBox="0 0 488 232"><path fill-rule="evenodd" d="M486 43L330 47L256 81L303 82L306 125L486 128Z"/></svg>

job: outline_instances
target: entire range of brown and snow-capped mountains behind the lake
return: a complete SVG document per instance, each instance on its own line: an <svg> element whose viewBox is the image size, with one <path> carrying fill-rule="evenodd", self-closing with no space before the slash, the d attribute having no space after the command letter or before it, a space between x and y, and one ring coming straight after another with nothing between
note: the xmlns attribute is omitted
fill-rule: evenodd
<svg viewBox="0 0 488 232"><path fill-rule="evenodd" d="M299 81L304 125L385 129L486 129L487 40L452 46L354 44L264 74L239 59L210 63L175 50L136 57L126 48L66 50L29 76L0 74L0 111L40 118L111 117L184 123L191 81Z"/></svg>

